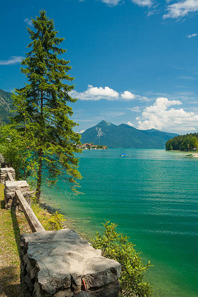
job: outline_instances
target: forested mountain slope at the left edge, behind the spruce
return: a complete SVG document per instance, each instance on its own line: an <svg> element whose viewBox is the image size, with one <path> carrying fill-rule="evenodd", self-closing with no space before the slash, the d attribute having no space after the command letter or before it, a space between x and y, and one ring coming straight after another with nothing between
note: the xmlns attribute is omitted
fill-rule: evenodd
<svg viewBox="0 0 198 297"><path fill-rule="evenodd" d="M0 89L0 122L9 122L9 110L12 108L11 93Z"/></svg>

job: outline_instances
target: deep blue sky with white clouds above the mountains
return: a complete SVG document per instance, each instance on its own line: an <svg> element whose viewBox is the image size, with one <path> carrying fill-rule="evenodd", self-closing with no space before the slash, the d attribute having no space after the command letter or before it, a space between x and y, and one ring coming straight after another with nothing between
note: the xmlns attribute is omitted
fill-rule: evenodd
<svg viewBox="0 0 198 297"><path fill-rule="evenodd" d="M198 0L40 0L1 4L0 88L26 82L31 17L54 19L73 67L81 132L105 119L138 129L198 130Z"/></svg>

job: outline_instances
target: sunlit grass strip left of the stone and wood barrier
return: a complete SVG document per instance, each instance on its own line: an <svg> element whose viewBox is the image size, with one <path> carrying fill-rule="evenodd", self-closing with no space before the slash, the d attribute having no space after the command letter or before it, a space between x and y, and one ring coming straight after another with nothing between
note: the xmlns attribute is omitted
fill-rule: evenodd
<svg viewBox="0 0 198 297"><path fill-rule="evenodd" d="M32 232L23 213L6 210L0 184L0 297L20 294L20 234Z"/></svg>

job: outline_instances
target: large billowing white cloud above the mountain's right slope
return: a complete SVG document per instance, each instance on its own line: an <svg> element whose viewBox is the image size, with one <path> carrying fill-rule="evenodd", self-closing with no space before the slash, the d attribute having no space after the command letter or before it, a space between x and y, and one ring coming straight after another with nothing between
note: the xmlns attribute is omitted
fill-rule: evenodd
<svg viewBox="0 0 198 297"><path fill-rule="evenodd" d="M179 100L156 99L153 105L146 107L143 113L136 117L138 129L154 128L173 132L195 131L195 127L198 127L198 115L186 112L182 108L169 108L171 105L179 104L182 104Z"/></svg>

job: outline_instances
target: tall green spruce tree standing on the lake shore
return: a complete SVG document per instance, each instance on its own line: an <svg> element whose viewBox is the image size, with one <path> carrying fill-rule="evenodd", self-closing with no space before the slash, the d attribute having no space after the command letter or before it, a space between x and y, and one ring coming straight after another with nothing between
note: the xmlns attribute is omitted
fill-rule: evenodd
<svg viewBox="0 0 198 297"><path fill-rule="evenodd" d="M72 108L67 102L75 102L69 96L74 85L66 81L74 78L68 75L71 69L69 61L59 58L66 52L58 46L64 38L57 37L52 19L42 10L40 16L32 19L34 30L27 28L32 42L27 57L21 62L21 72L28 83L21 89L15 89L13 95L17 115L11 118L24 135L31 129L34 159L37 160L36 199L39 200L41 185L54 186L57 180L68 181L75 190L80 152L80 135L73 132L77 125L70 119Z"/></svg>

